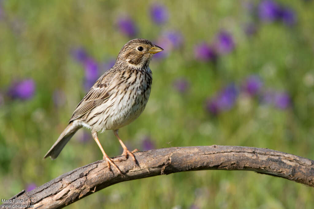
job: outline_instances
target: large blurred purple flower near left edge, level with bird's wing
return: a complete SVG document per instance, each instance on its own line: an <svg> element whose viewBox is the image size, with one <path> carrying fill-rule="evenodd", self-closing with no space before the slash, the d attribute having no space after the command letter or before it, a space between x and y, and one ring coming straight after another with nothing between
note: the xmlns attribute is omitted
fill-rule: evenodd
<svg viewBox="0 0 314 209"><path fill-rule="evenodd" d="M8 90L8 95L13 99L27 100L34 96L35 82L32 79L26 79L14 82Z"/></svg>

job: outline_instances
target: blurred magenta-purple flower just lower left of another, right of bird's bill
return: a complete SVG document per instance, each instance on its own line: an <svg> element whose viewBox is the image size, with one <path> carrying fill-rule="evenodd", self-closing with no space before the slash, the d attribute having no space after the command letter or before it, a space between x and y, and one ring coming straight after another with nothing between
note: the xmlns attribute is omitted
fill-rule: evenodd
<svg viewBox="0 0 314 209"><path fill-rule="evenodd" d="M194 56L200 61L216 61L217 59L214 48L205 42L194 47Z"/></svg>

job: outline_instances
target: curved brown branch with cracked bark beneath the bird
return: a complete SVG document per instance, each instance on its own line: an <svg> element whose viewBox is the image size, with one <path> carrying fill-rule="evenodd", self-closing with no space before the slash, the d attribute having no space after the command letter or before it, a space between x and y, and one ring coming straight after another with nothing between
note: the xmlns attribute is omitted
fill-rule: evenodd
<svg viewBox="0 0 314 209"><path fill-rule="evenodd" d="M109 171L107 162L100 160L62 174L30 192L22 191L13 199L23 199L23 204L35 208L62 208L122 181L194 170L248 170L314 187L314 161L270 149L213 145L163 148L134 155L137 166L131 158L116 162L124 176L114 168Z"/></svg>

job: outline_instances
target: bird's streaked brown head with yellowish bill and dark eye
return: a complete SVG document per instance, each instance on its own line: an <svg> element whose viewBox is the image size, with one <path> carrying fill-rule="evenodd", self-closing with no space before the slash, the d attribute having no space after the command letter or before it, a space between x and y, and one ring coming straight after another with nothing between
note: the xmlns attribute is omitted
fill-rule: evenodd
<svg viewBox="0 0 314 209"><path fill-rule="evenodd" d="M147 39L133 39L127 42L120 50L116 63L127 63L133 67L142 68L149 64L153 54L163 49Z"/></svg>

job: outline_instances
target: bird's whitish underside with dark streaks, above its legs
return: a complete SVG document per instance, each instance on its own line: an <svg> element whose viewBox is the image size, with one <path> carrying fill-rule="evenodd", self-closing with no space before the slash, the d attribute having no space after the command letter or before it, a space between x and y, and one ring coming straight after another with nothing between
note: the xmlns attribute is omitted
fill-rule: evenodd
<svg viewBox="0 0 314 209"><path fill-rule="evenodd" d="M111 95L104 104L93 110L95 113L102 112L100 117L102 119L97 122L91 120L89 125L95 131L104 131L119 129L130 124L143 112L149 93L150 89L146 91L124 91Z"/></svg>

